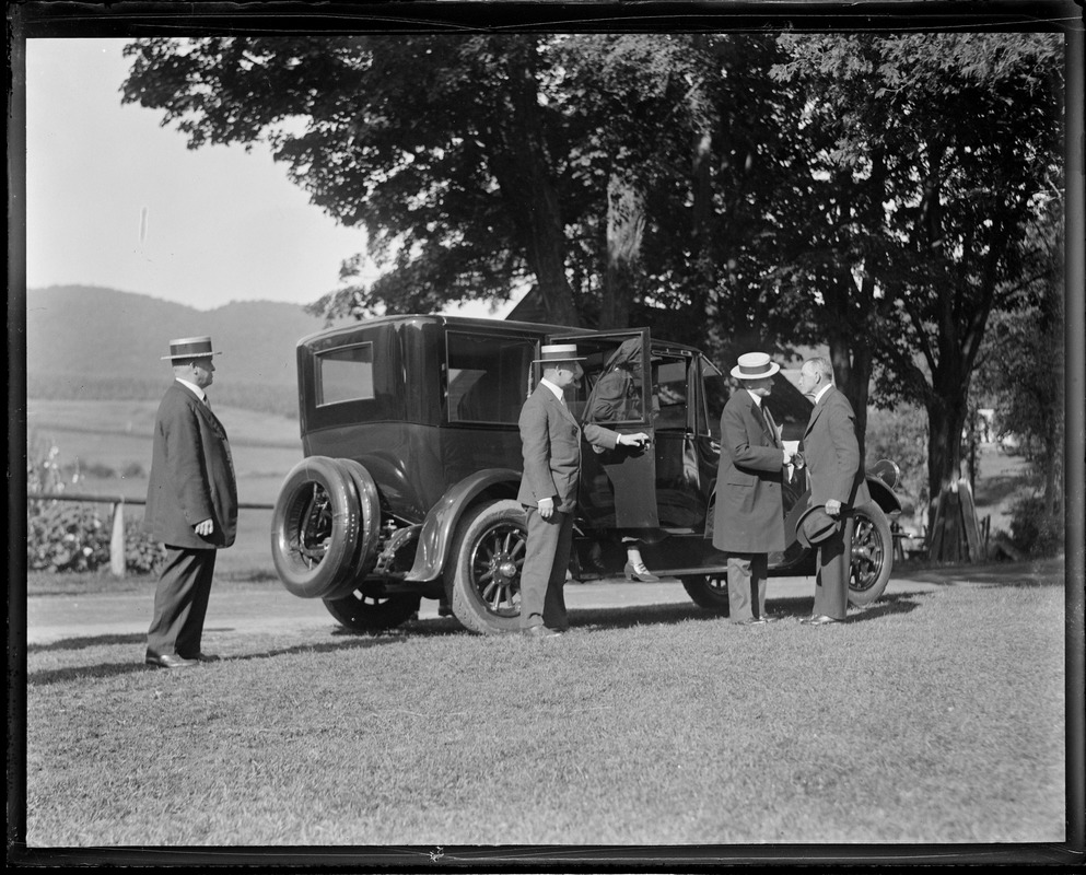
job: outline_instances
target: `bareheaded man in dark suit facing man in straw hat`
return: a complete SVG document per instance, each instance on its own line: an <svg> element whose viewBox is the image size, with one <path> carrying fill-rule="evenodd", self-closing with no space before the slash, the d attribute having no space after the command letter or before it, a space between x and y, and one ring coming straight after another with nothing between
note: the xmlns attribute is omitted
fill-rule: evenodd
<svg viewBox="0 0 1086 875"><path fill-rule="evenodd" d="M818 547L815 607L803 622L840 622L849 608L852 573L852 510L871 501L864 476L856 415L833 385L833 368L822 358L807 359L799 369L799 390L815 401L803 435L803 457L810 478L809 506L824 505L840 525Z"/></svg>

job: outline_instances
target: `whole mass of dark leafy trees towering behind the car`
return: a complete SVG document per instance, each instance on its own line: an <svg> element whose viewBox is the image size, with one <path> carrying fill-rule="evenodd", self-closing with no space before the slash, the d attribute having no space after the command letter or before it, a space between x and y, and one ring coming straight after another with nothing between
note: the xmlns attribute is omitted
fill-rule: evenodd
<svg viewBox="0 0 1086 875"><path fill-rule="evenodd" d="M191 148L270 143L382 269L322 303L430 312L537 285L547 320L725 361L829 346L863 421L930 418L956 479L993 311L1062 185L1054 34L139 39L125 102Z"/></svg>

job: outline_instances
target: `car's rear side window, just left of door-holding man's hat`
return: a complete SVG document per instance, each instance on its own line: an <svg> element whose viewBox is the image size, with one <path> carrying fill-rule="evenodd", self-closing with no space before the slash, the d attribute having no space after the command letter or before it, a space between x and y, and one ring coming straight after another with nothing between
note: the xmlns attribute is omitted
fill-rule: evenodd
<svg viewBox="0 0 1086 875"><path fill-rule="evenodd" d="M449 331L445 394L448 421L515 425L535 350L534 338Z"/></svg>

